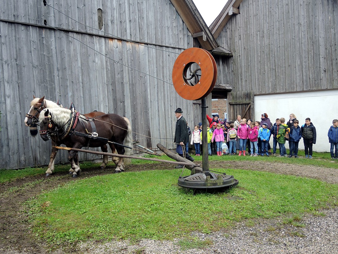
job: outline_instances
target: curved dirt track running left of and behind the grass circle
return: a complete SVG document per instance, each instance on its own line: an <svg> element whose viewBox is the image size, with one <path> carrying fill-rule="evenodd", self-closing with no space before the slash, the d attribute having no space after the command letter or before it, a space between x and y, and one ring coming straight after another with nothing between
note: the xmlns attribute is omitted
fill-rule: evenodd
<svg viewBox="0 0 338 254"><path fill-rule="evenodd" d="M259 170L277 174L288 174L319 179L324 182L338 184L338 169L321 168L314 166L298 166L283 163L268 162L234 162L234 161L209 161L210 168L241 168L247 170ZM174 169L169 163L129 165L126 171ZM0 251L6 253L49 253L44 242L35 239L32 235L28 215L22 213L26 200L39 195L44 190L63 186L71 181L78 181L83 177L111 174L115 167L110 166L104 170L99 168L84 169L80 177L72 178L66 172L55 173L52 176L44 175L24 177L12 182L0 185ZM73 250L74 251L74 250ZM54 251L52 253L60 253Z"/></svg>

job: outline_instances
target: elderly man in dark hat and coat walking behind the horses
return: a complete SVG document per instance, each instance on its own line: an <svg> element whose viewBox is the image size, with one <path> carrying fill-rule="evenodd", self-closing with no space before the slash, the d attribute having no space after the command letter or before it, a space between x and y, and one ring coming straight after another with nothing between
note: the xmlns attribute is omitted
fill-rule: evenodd
<svg viewBox="0 0 338 254"><path fill-rule="evenodd" d="M177 108L175 110L175 117L177 118L176 127L175 127L175 139L174 142L176 143L176 152L179 156L183 156L183 149L182 146L188 143L189 134L188 134L188 127L187 122L182 116L182 109ZM191 157L189 154L185 156L189 161L193 162L194 158ZM177 165L175 168L183 168L183 165Z"/></svg>

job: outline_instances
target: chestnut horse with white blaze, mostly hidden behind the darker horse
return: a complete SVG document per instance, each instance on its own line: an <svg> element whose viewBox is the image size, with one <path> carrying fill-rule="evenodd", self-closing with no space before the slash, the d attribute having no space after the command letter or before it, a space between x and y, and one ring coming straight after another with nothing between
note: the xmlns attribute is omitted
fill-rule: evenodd
<svg viewBox="0 0 338 254"><path fill-rule="evenodd" d="M39 116L40 116L40 112L45 109L45 108L59 108L59 105L57 105L55 102L46 100L45 97L40 98L35 98L35 96L33 96L33 100L30 102L30 109L28 111L28 113L26 114L26 118L25 118L25 125L26 126L31 126L33 124L37 124L39 122ZM86 117L89 118L94 118L96 116L99 115L103 115L105 113L103 112L99 112L99 111L94 111L88 114L84 114ZM49 158L49 164L48 164L48 168L46 171L46 176L49 176L53 173L54 171L54 162L55 162L55 157L57 154L58 149L54 148L54 146L60 146L63 144L62 140L58 140L56 136L52 136L51 137L52 140L52 152L50 154L50 158ZM107 145L103 145L101 147L102 152L107 152L108 151L108 147ZM112 150L112 152L115 152L115 148L114 150ZM115 165L117 165L118 163L118 158L117 157L113 157L113 161L115 163ZM101 164L101 168L105 168L105 165L108 163L108 156L107 155L103 155L103 162ZM69 174L73 174L73 169L69 170Z"/></svg>

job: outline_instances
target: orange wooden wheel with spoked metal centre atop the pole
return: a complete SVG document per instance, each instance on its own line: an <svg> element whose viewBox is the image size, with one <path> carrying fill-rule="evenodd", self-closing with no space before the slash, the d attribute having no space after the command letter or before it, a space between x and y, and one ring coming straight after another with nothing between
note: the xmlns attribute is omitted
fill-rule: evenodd
<svg viewBox="0 0 338 254"><path fill-rule="evenodd" d="M214 88L217 66L213 56L201 48L188 48L176 59L172 81L176 92L186 100L200 100Z"/></svg>

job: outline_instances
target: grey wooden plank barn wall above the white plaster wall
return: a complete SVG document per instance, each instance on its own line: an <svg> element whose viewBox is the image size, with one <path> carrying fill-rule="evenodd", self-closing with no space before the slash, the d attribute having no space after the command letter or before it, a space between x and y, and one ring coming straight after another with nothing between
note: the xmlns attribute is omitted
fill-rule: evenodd
<svg viewBox="0 0 338 254"><path fill-rule="evenodd" d="M239 10L216 38L234 54L224 62L232 93L338 88L336 0L243 0Z"/></svg>

